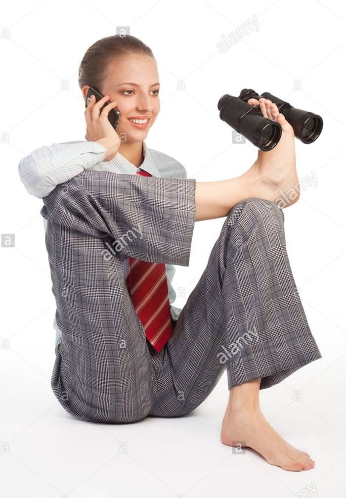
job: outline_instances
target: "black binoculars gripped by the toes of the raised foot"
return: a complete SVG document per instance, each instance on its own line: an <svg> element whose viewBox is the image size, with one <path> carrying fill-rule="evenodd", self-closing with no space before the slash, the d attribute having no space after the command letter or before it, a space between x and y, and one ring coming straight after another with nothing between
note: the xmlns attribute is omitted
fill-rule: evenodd
<svg viewBox="0 0 346 498"><path fill-rule="evenodd" d="M323 128L321 116L297 109L268 92L258 95L254 90L244 88L238 97L224 95L218 103L220 119L247 138L260 150L271 150L281 138L281 126L276 121L264 118L260 106L247 104L249 99L269 99L276 104L292 126L294 134L303 143L312 143L320 136Z"/></svg>

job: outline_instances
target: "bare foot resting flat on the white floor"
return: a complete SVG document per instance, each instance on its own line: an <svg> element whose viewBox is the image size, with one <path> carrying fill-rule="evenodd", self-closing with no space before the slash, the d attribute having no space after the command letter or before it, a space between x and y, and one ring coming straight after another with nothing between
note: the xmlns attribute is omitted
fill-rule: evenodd
<svg viewBox="0 0 346 498"><path fill-rule="evenodd" d="M259 407L227 407L221 430L221 442L227 446L249 447L271 464L288 471L309 470L315 462L305 451L285 441L269 425Z"/></svg>

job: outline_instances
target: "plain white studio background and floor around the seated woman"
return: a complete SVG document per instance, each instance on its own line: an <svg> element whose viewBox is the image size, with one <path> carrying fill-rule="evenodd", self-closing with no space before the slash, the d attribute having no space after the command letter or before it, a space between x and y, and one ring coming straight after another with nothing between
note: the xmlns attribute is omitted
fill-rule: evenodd
<svg viewBox="0 0 346 498"><path fill-rule="evenodd" d="M254 29L225 53L217 46L256 16ZM316 461L286 472L253 451L232 455L220 442L226 373L206 401L179 419L84 423L68 415L49 381L54 362L51 292L42 201L29 196L19 160L52 142L85 139L78 66L96 40L130 26L158 63L161 112L149 147L184 164L189 178L243 173L256 158L232 144L217 103L242 88L271 92L320 114L316 142L296 139L301 189L284 210L287 251L323 358L260 392L274 428ZM342 497L346 492L345 54L346 5L307 0L6 2L1 15L0 488L6 497ZM178 82L185 89L178 90ZM225 219L196 223L190 266L173 280L183 307ZM300 400L294 395L299 391ZM121 445L126 443L126 451ZM298 495L299 496L299 495Z"/></svg>

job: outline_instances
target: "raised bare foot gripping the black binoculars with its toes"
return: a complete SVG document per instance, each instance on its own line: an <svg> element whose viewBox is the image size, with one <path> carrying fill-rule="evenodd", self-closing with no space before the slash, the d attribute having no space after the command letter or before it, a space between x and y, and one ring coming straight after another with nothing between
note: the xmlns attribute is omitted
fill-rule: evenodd
<svg viewBox="0 0 346 498"><path fill-rule="evenodd" d="M243 176L255 182L258 197L278 202L282 208L291 206L300 196L293 128L270 100L249 99L248 104L259 104L265 118L281 125L282 134L272 150L258 151L256 161Z"/></svg>

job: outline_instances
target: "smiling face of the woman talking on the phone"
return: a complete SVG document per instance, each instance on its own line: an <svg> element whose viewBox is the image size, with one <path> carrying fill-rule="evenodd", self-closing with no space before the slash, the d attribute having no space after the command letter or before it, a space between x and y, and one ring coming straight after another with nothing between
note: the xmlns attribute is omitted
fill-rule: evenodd
<svg viewBox="0 0 346 498"><path fill-rule="evenodd" d="M116 130L121 141L145 140L160 111L160 88L156 61L144 54L116 58L109 65L100 91L117 102L120 122ZM146 124L132 124L129 118L148 118Z"/></svg>

